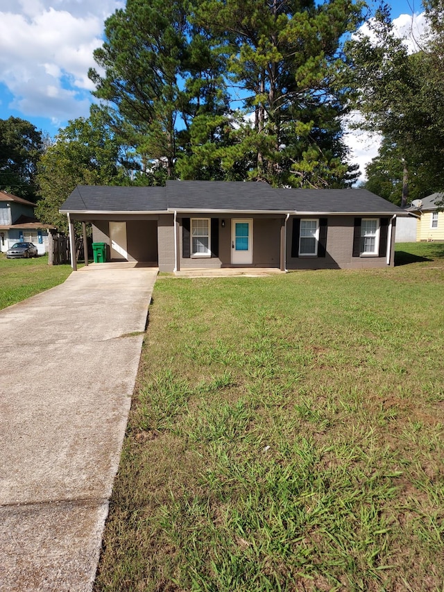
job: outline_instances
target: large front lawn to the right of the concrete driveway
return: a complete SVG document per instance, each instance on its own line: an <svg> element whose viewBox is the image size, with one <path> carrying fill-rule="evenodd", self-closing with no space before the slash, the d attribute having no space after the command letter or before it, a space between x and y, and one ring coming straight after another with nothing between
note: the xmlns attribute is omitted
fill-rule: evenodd
<svg viewBox="0 0 444 592"><path fill-rule="evenodd" d="M156 282L95 591L442 591L443 245Z"/></svg>

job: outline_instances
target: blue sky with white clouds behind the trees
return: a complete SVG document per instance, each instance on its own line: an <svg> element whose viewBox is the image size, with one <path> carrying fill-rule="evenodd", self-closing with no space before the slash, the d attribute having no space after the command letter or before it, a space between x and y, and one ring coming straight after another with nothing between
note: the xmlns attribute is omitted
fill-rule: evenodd
<svg viewBox="0 0 444 592"><path fill-rule="evenodd" d="M0 119L21 117L54 136L69 119L87 117L92 52L101 45L106 17L124 5L124 0L0 0ZM391 6L393 19L406 15L401 28L422 10L418 0L393 0ZM352 151L356 143L351 137ZM361 168L373 155L368 140L364 144L367 151L355 155Z"/></svg>

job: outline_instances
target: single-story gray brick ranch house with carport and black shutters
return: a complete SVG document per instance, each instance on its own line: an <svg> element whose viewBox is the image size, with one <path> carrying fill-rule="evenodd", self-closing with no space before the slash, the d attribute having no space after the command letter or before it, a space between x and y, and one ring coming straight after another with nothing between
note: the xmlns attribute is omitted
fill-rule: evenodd
<svg viewBox="0 0 444 592"><path fill-rule="evenodd" d="M108 261L152 262L160 271L386 267L393 265L396 217L409 215L366 189L223 181L80 186L60 212L71 244L74 221L90 222Z"/></svg>

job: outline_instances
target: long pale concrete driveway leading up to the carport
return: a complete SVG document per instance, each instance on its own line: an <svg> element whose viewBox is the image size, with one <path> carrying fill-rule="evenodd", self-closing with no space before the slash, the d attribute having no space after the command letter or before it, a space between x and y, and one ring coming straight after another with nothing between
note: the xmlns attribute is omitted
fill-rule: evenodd
<svg viewBox="0 0 444 592"><path fill-rule="evenodd" d="M0 590L88 591L157 269L96 264L0 311Z"/></svg>

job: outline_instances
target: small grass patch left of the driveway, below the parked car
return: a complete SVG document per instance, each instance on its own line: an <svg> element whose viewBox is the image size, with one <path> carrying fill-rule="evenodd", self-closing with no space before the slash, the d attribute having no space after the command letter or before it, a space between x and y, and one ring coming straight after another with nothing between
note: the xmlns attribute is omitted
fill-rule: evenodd
<svg viewBox="0 0 444 592"><path fill-rule="evenodd" d="M6 259L0 255L0 309L61 284L69 265L48 265L48 255L35 259Z"/></svg>

